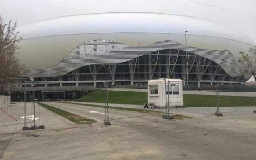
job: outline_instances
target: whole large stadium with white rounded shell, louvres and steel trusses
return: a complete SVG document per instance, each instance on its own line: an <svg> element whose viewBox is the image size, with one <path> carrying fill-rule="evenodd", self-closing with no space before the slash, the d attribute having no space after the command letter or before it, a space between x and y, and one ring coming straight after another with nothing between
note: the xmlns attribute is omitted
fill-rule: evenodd
<svg viewBox="0 0 256 160"><path fill-rule="evenodd" d="M145 85L157 78L180 78L197 87L240 85L251 75L244 75L239 52L255 46L219 24L157 13L64 16L19 31L23 76L61 86L101 86L105 80Z"/></svg>

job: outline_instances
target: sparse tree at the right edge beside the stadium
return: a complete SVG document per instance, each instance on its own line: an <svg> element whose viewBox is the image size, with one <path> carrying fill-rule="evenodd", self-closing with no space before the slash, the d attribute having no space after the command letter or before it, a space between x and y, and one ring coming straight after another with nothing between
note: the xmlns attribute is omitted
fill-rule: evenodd
<svg viewBox="0 0 256 160"><path fill-rule="evenodd" d="M256 81L256 46L255 48L250 48L249 53L239 52L241 57L238 62L242 63L245 67L245 73L253 75Z"/></svg>

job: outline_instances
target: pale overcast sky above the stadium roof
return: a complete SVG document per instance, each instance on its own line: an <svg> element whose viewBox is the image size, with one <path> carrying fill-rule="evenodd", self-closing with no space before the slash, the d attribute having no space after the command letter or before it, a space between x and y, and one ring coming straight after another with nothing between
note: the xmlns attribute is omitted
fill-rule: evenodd
<svg viewBox="0 0 256 160"><path fill-rule="evenodd" d="M255 0L0 0L0 4L0 14L19 26L74 14L158 12L211 20L256 42Z"/></svg>

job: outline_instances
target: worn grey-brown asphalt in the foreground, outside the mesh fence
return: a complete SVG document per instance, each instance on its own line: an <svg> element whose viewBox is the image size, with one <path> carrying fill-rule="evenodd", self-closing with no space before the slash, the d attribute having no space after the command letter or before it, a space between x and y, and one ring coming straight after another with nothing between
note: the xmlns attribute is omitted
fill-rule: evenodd
<svg viewBox="0 0 256 160"><path fill-rule="evenodd" d="M182 121L140 119L109 127L93 123L0 135L0 159L255 160L256 114L252 112L224 117L201 114Z"/></svg>

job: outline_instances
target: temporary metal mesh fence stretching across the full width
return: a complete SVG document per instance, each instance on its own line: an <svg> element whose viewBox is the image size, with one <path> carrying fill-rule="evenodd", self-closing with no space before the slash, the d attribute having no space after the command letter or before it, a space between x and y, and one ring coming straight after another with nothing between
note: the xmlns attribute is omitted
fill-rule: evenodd
<svg viewBox="0 0 256 160"><path fill-rule="evenodd" d="M165 92L165 97L168 97L168 94L170 97L173 96L165 99L166 107L145 108L148 93L151 92L147 89L109 89L110 82L103 82L104 87L95 90L93 86L69 86L63 85L64 83L67 84L66 81L0 79L0 126L92 121L103 123L113 120L116 120L114 123L119 120L125 123L132 121L132 118L138 121L140 117L148 117L151 114L193 115L219 112L225 115L256 110L255 92L236 92L234 89L223 91L220 83L215 83L210 90L183 91L184 107L178 108L177 105L173 105L180 100L174 96L178 90L172 84L169 84L169 89ZM159 89L155 87L152 90L155 97L160 96ZM87 96L93 98L87 99Z"/></svg>

